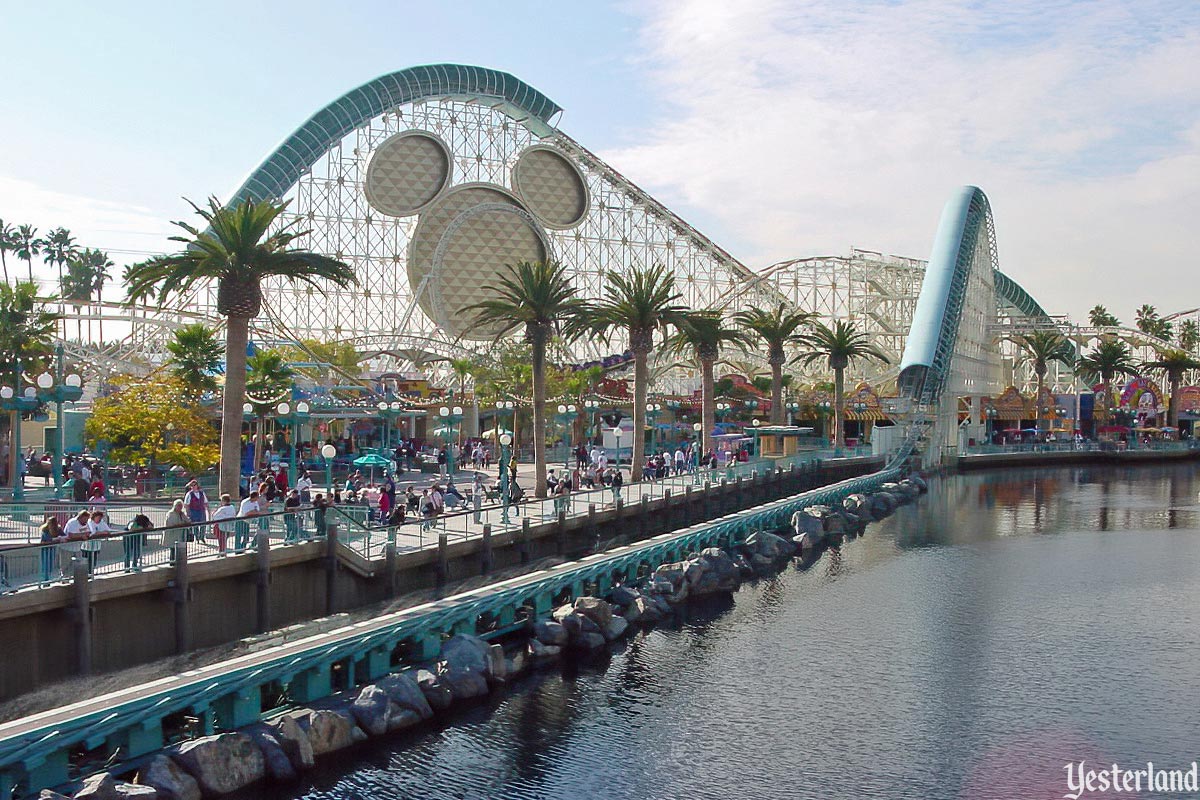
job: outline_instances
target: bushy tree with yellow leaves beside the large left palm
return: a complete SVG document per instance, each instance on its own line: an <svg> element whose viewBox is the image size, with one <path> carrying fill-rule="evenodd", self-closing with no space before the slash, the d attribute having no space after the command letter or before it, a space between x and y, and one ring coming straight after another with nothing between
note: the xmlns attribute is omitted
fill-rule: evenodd
<svg viewBox="0 0 1200 800"><path fill-rule="evenodd" d="M179 464L200 473L217 462L211 416L187 384L174 377L113 383L118 391L98 398L84 423L90 447L103 443L113 459L134 467Z"/></svg>

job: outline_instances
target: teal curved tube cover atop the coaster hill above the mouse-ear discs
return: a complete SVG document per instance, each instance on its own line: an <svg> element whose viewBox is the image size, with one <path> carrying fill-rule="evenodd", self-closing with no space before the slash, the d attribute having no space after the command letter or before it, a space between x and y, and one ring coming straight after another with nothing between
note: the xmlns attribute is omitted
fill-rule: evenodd
<svg viewBox="0 0 1200 800"><path fill-rule="evenodd" d="M563 110L529 84L506 72L462 64L430 64L380 76L352 89L313 114L251 173L229 199L276 199L290 190L305 172L335 144L367 120L390 108L426 97L490 100L508 107L512 116L540 122Z"/></svg>

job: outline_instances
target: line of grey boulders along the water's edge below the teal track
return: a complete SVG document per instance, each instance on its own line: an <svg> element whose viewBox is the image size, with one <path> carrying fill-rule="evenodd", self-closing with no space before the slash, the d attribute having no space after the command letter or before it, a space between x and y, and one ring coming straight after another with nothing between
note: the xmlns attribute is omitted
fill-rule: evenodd
<svg viewBox="0 0 1200 800"><path fill-rule="evenodd" d="M486 697L532 669L595 652L637 626L672 614L689 599L730 594L743 581L770 575L791 558L808 555L860 534L926 491L917 476L884 483L871 494L851 494L841 506L809 506L791 528L756 531L727 552L709 547L683 561L664 564L640 581L614 587L606 597L577 597L523 633L488 643L456 634L437 661L392 673L356 691L286 711L236 732L174 745L144 762L132 782L100 772L73 795L43 789L42 800L202 800L239 792L260 781L293 781L317 759L367 739L413 728L457 703Z"/></svg>

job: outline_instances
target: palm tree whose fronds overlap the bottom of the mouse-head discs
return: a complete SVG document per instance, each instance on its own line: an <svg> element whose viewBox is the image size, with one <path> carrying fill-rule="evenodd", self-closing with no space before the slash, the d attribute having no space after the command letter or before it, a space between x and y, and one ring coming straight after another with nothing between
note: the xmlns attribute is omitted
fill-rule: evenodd
<svg viewBox="0 0 1200 800"><path fill-rule="evenodd" d="M546 347L556 333L580 335L588 305L575 296L558 261L520 261L499 276L497 296L470 306L475 325L498 326L496 338L522 329L532 349L534 494L546 497Z"/></svg>

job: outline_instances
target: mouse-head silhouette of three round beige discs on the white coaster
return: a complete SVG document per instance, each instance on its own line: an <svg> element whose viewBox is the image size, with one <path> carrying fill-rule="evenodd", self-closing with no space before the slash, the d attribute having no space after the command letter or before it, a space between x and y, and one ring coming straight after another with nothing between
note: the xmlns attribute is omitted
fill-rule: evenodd
<svg viewBox="0 0 1200 800"><path fill-rule="evenodd" d="M408 281L421 309L446 333L481 341L496 330L472 325L469 306L494 296L505 264L553 258L546 228L566 230L587 216L580 170L558 150L535 144L512 166L511 191L452 182L449 148L426 131L385 139L367 166L364 194L384 215L418 215L408 243Z"/></svg>

